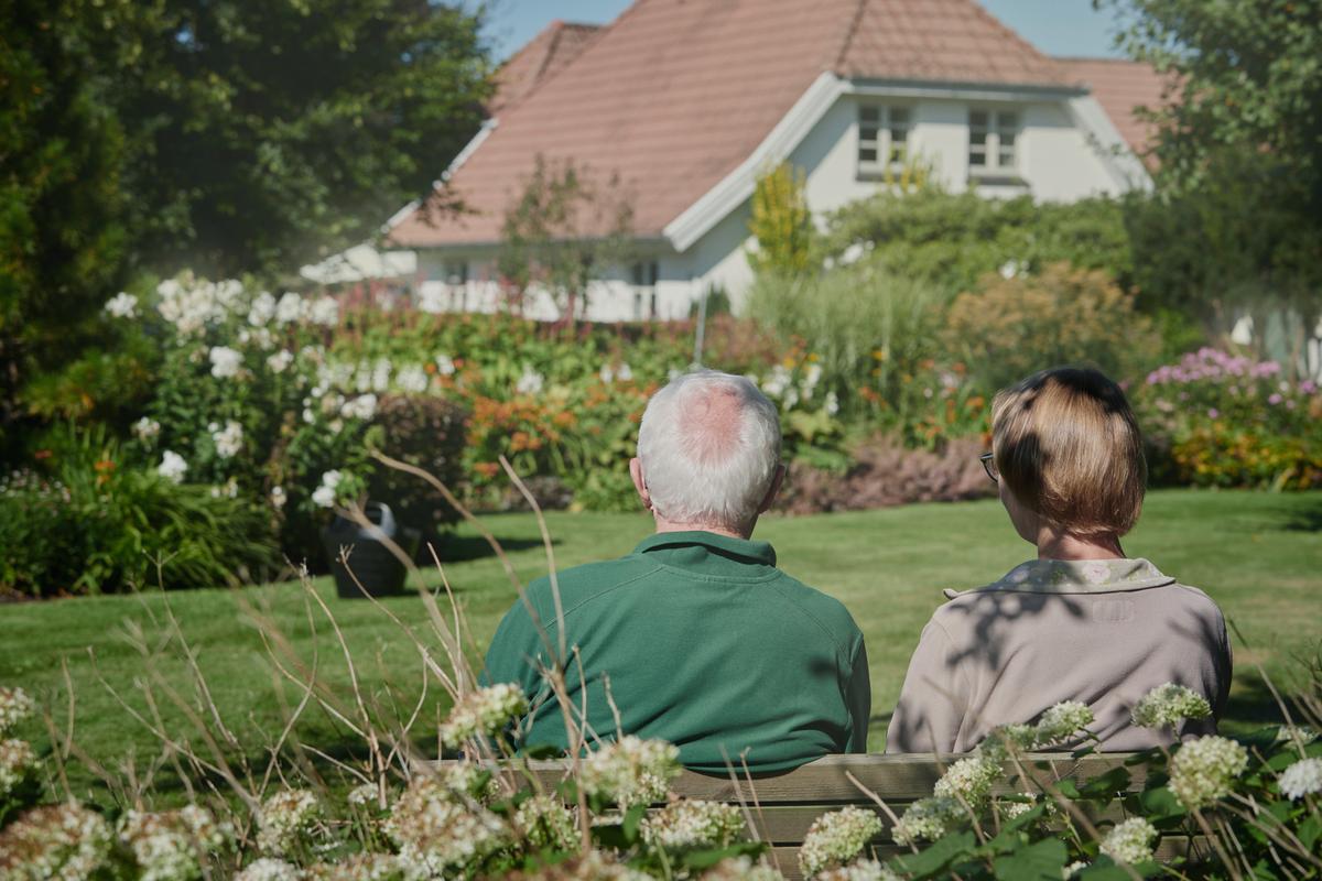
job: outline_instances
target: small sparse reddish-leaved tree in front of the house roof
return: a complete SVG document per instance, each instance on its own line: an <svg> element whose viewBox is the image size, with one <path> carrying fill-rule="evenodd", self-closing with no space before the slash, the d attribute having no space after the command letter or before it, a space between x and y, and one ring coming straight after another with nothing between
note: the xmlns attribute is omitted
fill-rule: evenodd
<svg viewBox="0 0 1322 881"><path fill-rule="evenodd" d="M619 177L603 182L572 161L538 155L505 213L497 269L525 299L546 291L572 322L587 309L588 284L633 252L633 207Z"/></svg>

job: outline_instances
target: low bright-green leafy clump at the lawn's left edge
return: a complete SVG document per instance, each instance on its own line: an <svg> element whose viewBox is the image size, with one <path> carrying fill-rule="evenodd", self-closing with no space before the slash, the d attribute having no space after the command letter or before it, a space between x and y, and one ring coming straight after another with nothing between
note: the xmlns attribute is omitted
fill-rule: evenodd
<svg viewBox="0 0 1322 881"><path fill-rule="evenodd" d="M253 581L278 557L271 515L178 485L103 432L58 432L44 472L0 493L0 590L32 597Z"/></svg>

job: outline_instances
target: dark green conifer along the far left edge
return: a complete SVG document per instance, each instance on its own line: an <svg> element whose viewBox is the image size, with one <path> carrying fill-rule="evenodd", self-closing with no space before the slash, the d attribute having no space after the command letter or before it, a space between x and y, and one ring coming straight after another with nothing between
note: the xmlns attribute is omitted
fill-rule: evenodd
<svg viewBox="0 0 1322 881"><path fill-rule="evenodd" d="M0 437L123 280L122 129L70 38L93 26L82 0L0 7Z"/></svg>

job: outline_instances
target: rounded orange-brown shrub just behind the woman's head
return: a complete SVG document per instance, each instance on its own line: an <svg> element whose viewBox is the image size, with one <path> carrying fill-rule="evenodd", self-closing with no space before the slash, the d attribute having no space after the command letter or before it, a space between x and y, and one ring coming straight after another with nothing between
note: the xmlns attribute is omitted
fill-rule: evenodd
<svg viewBox="0 0 1322 881"><path fill-rule="evenodd" d="M1067 263L986 276L951 304L943 341L989 390L1066 363L1092 365L1116 379L1141 375L1162 346L1133 295L1105 272Z"/></svg>

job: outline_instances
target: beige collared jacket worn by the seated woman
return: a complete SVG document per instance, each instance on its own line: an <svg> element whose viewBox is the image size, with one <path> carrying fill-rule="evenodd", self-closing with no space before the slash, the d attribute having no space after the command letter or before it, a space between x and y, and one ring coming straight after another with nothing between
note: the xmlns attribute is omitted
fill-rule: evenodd
<svg viewBox="0 0 1322 881"><path fill-rule="evenodd" d="M1231 684L1216 604L1147 560L1032 560L999 581L947 592L923 629L886 737L888 753L965 753L997 725L1032 722L1063 700L1087 704L1100 749L1169 744L1137 728L1133 705L1173 682L1212 705L1181 736L1211 733Z"/></svg>

